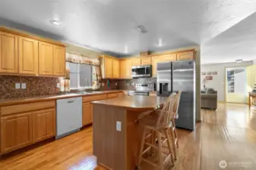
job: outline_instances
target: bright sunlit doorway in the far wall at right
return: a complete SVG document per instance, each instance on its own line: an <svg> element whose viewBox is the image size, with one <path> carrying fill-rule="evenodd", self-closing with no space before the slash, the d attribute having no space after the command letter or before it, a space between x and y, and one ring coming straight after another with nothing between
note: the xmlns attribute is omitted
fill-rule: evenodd
<svg viewBox="0 0 256 170"><path fill-rule="evenodd" d="M246 77L245 67L226 68L226 102L246 104Z"/></svg>

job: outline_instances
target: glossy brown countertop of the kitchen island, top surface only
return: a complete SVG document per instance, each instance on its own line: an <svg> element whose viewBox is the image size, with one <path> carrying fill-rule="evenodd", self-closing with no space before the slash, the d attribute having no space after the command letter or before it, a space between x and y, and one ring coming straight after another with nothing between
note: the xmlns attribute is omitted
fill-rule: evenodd
<svg viewBox="0 0 256 170"><path fill-rule="evenodd" d="M125 107L126 109L141 110L155 109L166 101L167 97L154 96L125 96L107 100L93 101L93 104L102 104L113 107Z"/></svg>

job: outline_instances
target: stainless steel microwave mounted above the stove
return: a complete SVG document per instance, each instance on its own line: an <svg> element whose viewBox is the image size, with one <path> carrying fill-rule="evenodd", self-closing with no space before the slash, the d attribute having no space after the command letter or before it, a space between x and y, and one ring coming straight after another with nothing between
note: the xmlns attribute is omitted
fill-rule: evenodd
<svg viewBox="0 0 256 170"><path fill-rule="evenodd" d="M152 66L132 66L131 67L131 76L132 78L142 78L142 77L151 77Z"/></svg>

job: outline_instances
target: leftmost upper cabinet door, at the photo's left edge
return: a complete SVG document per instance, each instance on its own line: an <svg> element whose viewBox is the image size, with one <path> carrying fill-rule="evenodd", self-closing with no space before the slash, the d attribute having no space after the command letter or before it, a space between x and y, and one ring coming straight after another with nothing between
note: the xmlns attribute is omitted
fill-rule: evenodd
<svg viewBox="0 0 256 170"><path fill-rule="evenodd" d="M0 32L0 73L18 73L17 36Z"/></svg>

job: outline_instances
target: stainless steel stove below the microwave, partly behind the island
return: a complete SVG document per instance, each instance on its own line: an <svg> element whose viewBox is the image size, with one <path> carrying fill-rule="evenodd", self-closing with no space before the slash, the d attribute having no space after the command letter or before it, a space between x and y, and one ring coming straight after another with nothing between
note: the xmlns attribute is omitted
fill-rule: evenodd
<svg viewBox="0 0 256 170"><path fill-rule="evenodd" d="M128 96L135 96L135 95L141 95L141 96L149 96L150 91L154 91L154 84L136 84L135 85L135 91L128 91Z"/></svg>

